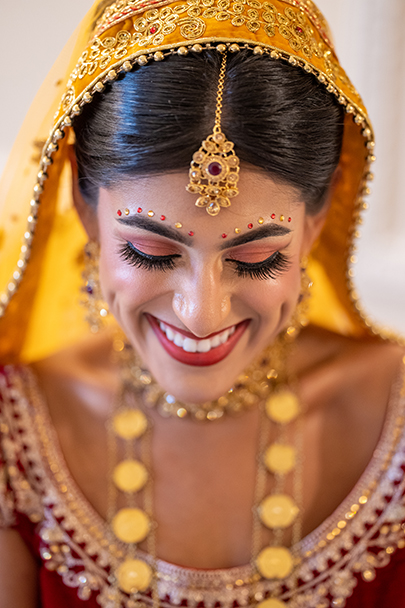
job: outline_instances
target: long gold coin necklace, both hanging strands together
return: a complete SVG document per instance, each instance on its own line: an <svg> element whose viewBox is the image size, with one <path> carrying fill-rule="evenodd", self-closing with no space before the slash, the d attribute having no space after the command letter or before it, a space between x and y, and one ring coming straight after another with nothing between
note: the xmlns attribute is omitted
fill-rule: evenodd
<svg viewBox="0 0 405 608"><path fill-rule="evenodd" d="M125 348L120 352L122 390L112 417L108 423L110 454L110 490L108 521L118 540L126 546L125 558L112 573L111 581L115 587L117 606L120 606L118 589L130 596L127 605L138 605L140 594L151 589L153 605L159 605L156 572L156 539L153 521L153 491L151 474L151 433L152 424L139 403L145 400L145 388L150 386L140 379L143 389L133 383L133 358ZM285 360L284 341L272 347L272 359ZM279 356L277 357L276 354ZM141 374L147 374L136 366L138 380ZM150 374L145 376L149 379ZM255 488L254 524L252 535L252 567L256 573L253 582L261 578L282 582L289 576L297 564L297 556L283 543L286 530L292 527L292 543L295 545L301 538L301 466L298 454L298 442L291 442L287 433L290 423L296 427L300 423L300 403L297 395L289 388L290 382L269 364L266 353L261 365L250 370L245 376L246 384L254 383L256 394L261 394L261 425L258 446L258 469ZM145 379L144 379L145 380ZM266 389L264 388L266 385ZM145 386L146 385L146 386ZM244 393L245 386L242 389ZM159 411L159 410L158 410ZM167 415L167 414L166 414ZM178 416L181 418L181 416ZM198 416L194 416L197 420ZM210 420L205 415L201 419ZM218 418L211 418L215 420ZM268 444L270 428L276 430L276 436ZM298 428L295 429L298 436ZM121 445L124 457L119 460L117 454ZM123 446L123 449L122 449ZM293 474L293 496L284 490L286 478ZM272 490L267 493L269 475ZM117 508L118 496L121 505ZM142 497L142 503L141 503ZM263 546L262 532L266 528L272 533L272 540ZM148 561L139 556L137 546L147 539ZM112 590L112 593L114 591ZM276 597L261 597L254 593L259 608L282 608L287 604ZM260 597L259 597L260 596Z"/></svg>

